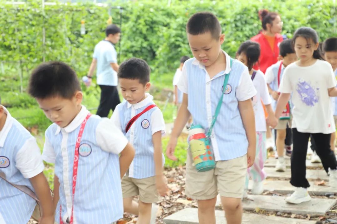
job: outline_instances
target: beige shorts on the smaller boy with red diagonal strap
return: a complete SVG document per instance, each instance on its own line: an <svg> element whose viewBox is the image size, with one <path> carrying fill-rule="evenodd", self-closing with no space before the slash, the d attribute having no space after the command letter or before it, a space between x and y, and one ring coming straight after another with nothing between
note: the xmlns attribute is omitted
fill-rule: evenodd
<svg viewBox="0 0 337 224"><path fill-rule="evenodd" d="M156 187L156 177L135 179L124 176L122 179L123 198L139 195L139 199L144 203L158 202L158 191Z"/></svg>

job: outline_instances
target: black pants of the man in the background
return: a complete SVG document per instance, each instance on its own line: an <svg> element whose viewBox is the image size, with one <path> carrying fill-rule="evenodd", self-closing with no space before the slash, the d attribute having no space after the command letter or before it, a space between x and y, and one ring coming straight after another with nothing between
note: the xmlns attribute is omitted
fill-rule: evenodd
<svg viewBox="0 0 337 224"><path fill-rule="evenodd" d="M117 86L99 85L99 87L101 88L101 99L96 114L105 118L108 117L110 110L114 111L121 101L119 100Z"/></svg>

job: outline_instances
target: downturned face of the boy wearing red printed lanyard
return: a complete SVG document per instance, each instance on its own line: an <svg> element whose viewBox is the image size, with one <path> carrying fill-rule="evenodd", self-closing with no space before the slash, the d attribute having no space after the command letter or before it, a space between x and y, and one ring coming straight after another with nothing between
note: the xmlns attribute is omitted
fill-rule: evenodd
<svg viewBox="0 0 337 224"><path fill-rule="evenodd" d="M64 128L80 112L82 98L82 92L78 91L71 99L55 96L45 99L37 98L36 101L49 120Z"/></svg>

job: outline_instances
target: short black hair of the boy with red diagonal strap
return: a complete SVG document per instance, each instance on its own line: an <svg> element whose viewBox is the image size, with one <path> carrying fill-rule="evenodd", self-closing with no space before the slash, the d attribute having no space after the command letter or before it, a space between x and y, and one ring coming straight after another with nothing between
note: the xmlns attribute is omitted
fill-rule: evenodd
<svg viewBox="0 0 337 224"><path fill-rule="evenodd" d="M139 79L145 85L150 82L150 67L145 60L133 57L121 63L117 75L120 79Z"/></svg>

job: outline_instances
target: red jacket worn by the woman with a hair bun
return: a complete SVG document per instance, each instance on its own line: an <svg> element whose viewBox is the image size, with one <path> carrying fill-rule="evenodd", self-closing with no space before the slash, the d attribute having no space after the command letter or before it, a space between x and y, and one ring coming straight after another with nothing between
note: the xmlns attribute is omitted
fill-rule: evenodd
<svg viewBox="0 0 337 224"><path fill-rule="evenodd" d="M260 58L253 68L266 73L267 68L277 62L277 58L279 56L279 46L283 41L283 37L280 34L275 35L274 52L262 33L252 37L251 40L259 43L261 48Z"/></svg>

